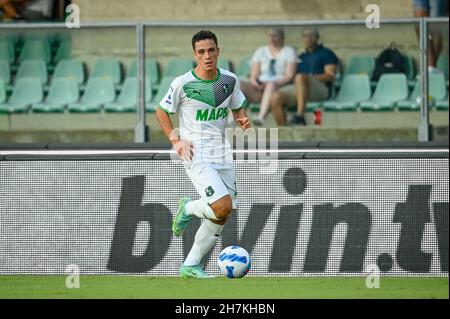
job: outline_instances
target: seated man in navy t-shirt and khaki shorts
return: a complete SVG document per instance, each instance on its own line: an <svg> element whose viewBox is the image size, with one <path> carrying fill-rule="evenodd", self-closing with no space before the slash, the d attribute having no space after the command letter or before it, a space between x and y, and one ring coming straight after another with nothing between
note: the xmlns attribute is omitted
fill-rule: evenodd
<svg viewBox="0 0 450 319"><path fill-rule="evenodd" d="M284 108L297 105L296 115L289 124L306 125L306 102L323 101L330 97L338 59L330 49L319 43L319 31L303 32L305 51L299 55L294 85L289 85L272 95L270 107L277 125L286 124Z"/></svg>

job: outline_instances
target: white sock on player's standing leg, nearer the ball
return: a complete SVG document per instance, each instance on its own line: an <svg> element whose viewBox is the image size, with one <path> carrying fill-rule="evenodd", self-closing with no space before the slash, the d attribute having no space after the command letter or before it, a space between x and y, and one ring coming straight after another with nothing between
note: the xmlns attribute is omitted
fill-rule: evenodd
<svg viewBox="0 0 450 319"><path fill-rule="evenodd" d="M217 239L222 233L223 225L214 224L205 219L195 234L194 245L192 245L186 260L185 266L199 265L203 256L205 256L216 244Z"/></svg>

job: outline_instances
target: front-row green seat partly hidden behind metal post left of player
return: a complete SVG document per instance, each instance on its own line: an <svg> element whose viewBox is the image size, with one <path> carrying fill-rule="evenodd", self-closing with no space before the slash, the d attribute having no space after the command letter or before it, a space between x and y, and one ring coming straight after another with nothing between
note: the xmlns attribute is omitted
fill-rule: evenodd
<svg viewBox="0 0 450 319"><path fill-rule="evenodd" d="M137 78L126 78L116 102L106 103L106 112L135 112L138 104L139 81ZM145 103L152 100L150 81L145 81Z"/></svg>

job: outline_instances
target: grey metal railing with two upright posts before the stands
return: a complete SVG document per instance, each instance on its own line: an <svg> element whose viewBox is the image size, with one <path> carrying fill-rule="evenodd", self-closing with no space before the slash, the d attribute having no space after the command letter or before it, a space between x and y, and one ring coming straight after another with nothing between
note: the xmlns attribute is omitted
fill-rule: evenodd
<svg viewBox="0 0 450 319"><path fill-rule="evenodd" d="M405 19L381 19L380 28L386 24L416 25L419 30L420 42L420 83L421 83L421 103L420 121L418 126L418 141L432 140L432 127L429 120L429 100L428 100L428 27L430 23L449 23L449 18L405 18ZM139 81L139 96L137 123L135 127L135 142L148 142L150 139L149 129L145 119L145 28L152 27L271 27L271 26L335 26L335 25L360 25L365 26L366 20L266 20L266 21L233 21L233 22L160 22L160 21L138 21L138 22L81 22L80 28L122 28L133 27L136 30L136 58L137 77ZM0 31L3 29L66 29L64 23L2 23Z"/></svg>

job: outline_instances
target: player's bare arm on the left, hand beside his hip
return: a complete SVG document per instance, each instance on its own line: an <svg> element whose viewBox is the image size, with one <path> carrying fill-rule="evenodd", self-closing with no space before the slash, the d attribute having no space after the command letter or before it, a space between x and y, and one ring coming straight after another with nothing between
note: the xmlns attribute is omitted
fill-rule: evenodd
<svg viewBox="0 0 450 319"><path fill-rule="evenodd" d="M170 115L164 110L162 110L161 107L157 107L156 119L158 120L161 130L163 131L164 135L166 135L167 138L169 139L178 156L183 160L191 160L192 144L180 139L180 136L178 135L177 132L178 130L173 129L173 124L172 120L170 119Z"/></svg>

